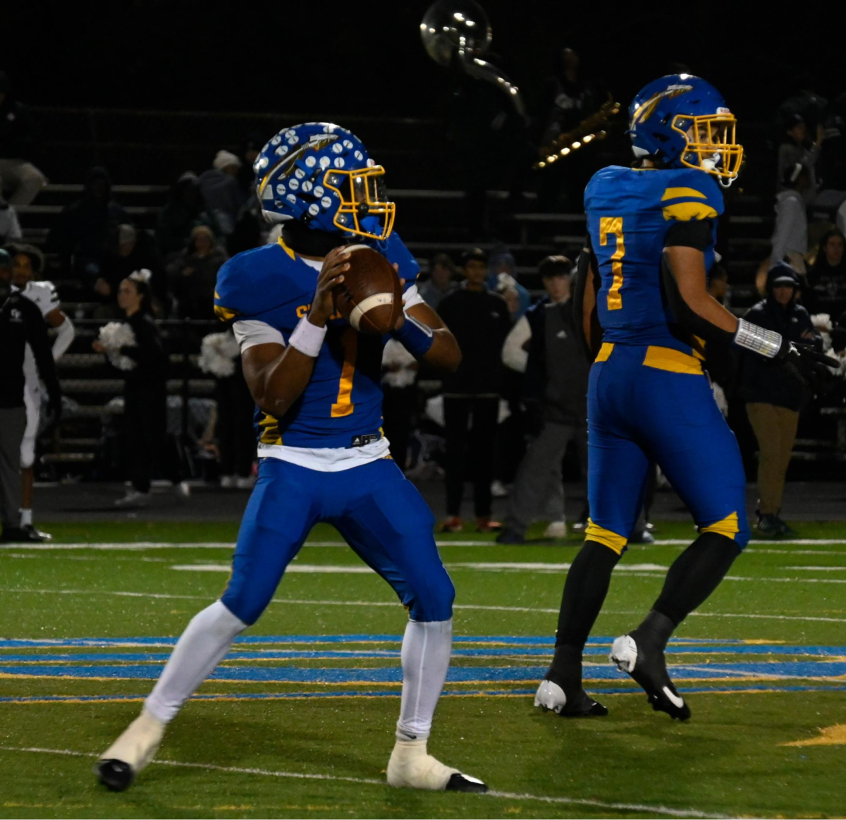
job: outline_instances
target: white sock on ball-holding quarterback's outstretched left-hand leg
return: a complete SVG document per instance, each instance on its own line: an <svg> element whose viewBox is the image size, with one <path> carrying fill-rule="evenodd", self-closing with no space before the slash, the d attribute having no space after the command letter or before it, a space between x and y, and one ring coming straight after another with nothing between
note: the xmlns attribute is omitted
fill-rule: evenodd
<svg viewBox="0 0 846 820"><path fill-rule="evenodd" d="M220 601L191 619L157 680L145 706L155 718L169 723L194 694L247 628Z"/></svg>

